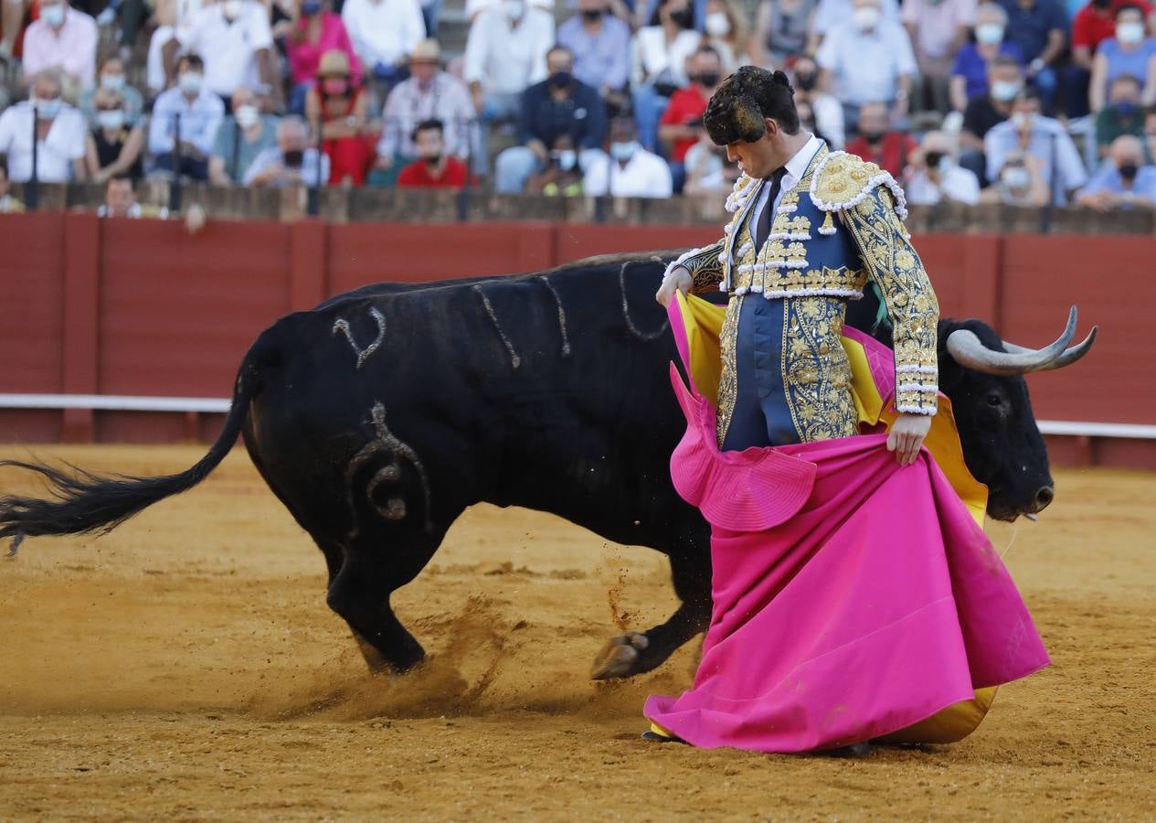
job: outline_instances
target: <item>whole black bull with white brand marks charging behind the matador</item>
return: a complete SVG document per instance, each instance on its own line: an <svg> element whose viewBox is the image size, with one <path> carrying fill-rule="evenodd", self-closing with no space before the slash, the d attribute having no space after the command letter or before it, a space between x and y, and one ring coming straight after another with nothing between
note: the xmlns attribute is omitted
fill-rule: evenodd
<svg viewBox="0 0 1156 823"><path fill-rule="evenodd" d="M243 435L269 488L321 549L327 602L371 667L405 670L423 659L391 594L466 507L486 501L551 512L667 554L682 604L666 623L615 638L594 675L653 669L705 629L711 576L709 527L668 473L684 421L668 383L674 341L654 302L662 269L657 257L594 258L543 274L381 284L288 315L245 355L224 431L197 465L102 478L7 462L44 475L55 498L0 499L0 536L18 545L108 531L191 488ZM868 329L875 307L864 303L849 323ZM1074 317L1047 350L1005 352L979 321L941 323L941 387L994 517L1051 501L1021 375L1079 359L1092 340L1067 350L1073 331Z"/></svg>

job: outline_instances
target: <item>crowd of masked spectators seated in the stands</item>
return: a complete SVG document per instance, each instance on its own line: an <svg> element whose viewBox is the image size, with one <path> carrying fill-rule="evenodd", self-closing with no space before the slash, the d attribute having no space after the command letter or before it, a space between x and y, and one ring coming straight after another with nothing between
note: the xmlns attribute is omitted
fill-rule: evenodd
<svg viewBox="0 0 1156 823"><path fill-rule="evenodd" d="M1156 208L1148 0L467 0L453 59L440 7L0 0L0 63L22 79L0 211L34 157L39 181L110 191L717 196L736 171L703 113L748 63L786 71L803 127L912 204Z"/></svg>

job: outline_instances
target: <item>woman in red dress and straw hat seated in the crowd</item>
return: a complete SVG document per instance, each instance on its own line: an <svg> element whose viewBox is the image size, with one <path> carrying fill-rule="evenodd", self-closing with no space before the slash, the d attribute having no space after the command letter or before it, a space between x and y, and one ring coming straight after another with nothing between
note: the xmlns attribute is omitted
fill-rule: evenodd
<svg viewBox="0 0 1156 823"><path fill-rule="evenodd" d="M317 83L305 96L305 118L321 138L329 160L329 185L364 185L375 141L365 134L365 90L353 78L349 56L321 56Z"/></svg>

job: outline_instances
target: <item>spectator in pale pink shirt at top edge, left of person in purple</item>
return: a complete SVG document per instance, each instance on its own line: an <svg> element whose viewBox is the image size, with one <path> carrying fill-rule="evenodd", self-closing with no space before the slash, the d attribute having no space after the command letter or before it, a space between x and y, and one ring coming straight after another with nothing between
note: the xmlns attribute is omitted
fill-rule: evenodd
<svg viewBox="0 0 1156 823"><path fill-rule="evenodd" d="M916 108L948 111L951 68L976 22L976 0L904 0L902 17L919 66Z"/></svg>

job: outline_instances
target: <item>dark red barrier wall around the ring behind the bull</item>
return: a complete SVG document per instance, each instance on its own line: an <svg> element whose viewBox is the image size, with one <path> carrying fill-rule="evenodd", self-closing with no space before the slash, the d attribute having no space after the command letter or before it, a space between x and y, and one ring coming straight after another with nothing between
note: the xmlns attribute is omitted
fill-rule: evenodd
<svg viewBox="0 0 1156 823"><path fill-rule="evenodd" d="M97 220L0 216L0 392L227 397L276 317L364 284L548 269L595 253L697 245L704 227L564 222L464 225ZM1036 416L1156 424L1149 337L1156 238L928 234L916 237L944 316L980 317L1021 345L1051 341L1067 308L1077 366L1032 375ZM0 441L210 440L220 416L0 410ZM1075 438L1055 463L1156 468L1156 441Z"/></svg>

